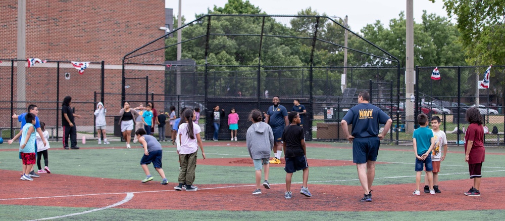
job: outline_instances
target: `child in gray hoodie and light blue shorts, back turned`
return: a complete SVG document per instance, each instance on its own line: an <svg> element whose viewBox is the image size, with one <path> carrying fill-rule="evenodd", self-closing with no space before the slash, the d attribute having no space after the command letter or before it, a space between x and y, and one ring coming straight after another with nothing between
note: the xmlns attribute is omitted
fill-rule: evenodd
<svg viewBox="0 0 505 221"><path fill-rule="evenodd" d="M256 169L256 190L253 191L252 194L261 194L260 182L263 165L265 167L265 181L263 182L263 186L266 189L270 189L270 184L268 183L268 170L270 152L272 152L275 143L274 134L270 125L262 122L263 117L260 110L252 110L249 116L252 125L247 129L247 150L249 151L249 155Z"/></svg>

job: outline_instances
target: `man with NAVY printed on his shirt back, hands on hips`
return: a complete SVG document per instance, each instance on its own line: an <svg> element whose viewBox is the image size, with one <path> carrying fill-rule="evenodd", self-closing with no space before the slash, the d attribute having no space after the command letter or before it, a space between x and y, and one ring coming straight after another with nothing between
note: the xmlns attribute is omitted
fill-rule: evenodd
<svg viewBox="0 0 505 221"><path fill-rule="evenodd" d="M379 153L380 140L384 138L393 121L384 111L369 104L370 94L367 91L358 95L358 105L349 109L341 121L342 130L347 140L352 143L352 159L358 168L358 177L365 191L361 201L372 201L372 183L375 178L375 161ZM347 124L352 124L349 135ZM379 124L384 129L379 135Z"/></svg>

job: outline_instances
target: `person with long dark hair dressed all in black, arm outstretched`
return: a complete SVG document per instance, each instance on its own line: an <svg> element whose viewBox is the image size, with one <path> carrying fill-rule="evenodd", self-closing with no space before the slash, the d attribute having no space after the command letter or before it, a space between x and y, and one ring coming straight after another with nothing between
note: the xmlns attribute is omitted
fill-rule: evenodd
<svg viewBox="0 0 505 221"><path fill-rule="evenodd" d="M63 99L62 104L62 126L63 126L63 148L68 150L68 137L70 136L70 149L79 149L77 147L77 129L75 126L74 117L81 117L74 114L70 107L72 97L67 96Z"/></svg>

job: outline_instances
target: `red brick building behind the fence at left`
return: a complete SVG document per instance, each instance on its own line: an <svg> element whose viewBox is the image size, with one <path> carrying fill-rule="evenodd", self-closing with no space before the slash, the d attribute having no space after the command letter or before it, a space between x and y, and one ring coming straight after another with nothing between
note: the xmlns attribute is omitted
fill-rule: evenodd
<svg viewBox="0 0 505 221"><path fill-rule="evenodd" d="M17 57L18 0L5 0L0 6L0 59ZM49 126L57 125L56 109L61 108L65 96L72 96L73 107L82 118L79 126L94 124L92 111L101 92L100 61L105 61L105 104L108 116L117 115L121 109L122 58L128 52L165 34L164 0L86 0L86 1L26 1L26 58L60 62L60 95L57 98L57 63L48 62L26 67L26 104L39 106L40 118ZM158 48L164 47L159 41ZM142 59L151 63L163 63L164 51L150 53ZM82 75L70 61L92 63ZM26 63L26 62L25 62ZM18 99L17 65L14 70L14 101ZM163 94L164 70L149 66L129 67L140 75L149 75L149 93ZM69 80L64 73L70 73ZM11 62L0 63L0 127L10 126ZM59 100L59 103L56 101ZM33 101L33 102L31 102ZM84 102L84 103L81 103ZM15 104L16 108L16 104ZM24 112L19 110L17 112ZM112 125L112 118L107 118ZM14 124L15 127L18 124ZM79 129L79 128L78 128Z"/></svg>

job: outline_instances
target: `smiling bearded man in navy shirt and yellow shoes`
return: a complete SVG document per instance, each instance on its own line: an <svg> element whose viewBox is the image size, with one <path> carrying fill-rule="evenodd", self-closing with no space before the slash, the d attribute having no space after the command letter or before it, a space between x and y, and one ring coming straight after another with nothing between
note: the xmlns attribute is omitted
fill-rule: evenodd
<svg viewBox="0 0 505 221"><path fill-rule="evenodd" d="M284 127L289 124L287 119L287 110L284 106L279 104L279 96L274 96L272 103L274 105L268 108L265 115L265 123L268 123L272 127L272 132L274 133L275 145L273 148L274 158L270 160L270 163L280 164L281 154L282 154L282 132Z"/></svg>

